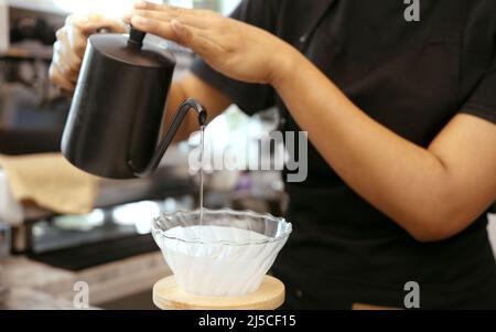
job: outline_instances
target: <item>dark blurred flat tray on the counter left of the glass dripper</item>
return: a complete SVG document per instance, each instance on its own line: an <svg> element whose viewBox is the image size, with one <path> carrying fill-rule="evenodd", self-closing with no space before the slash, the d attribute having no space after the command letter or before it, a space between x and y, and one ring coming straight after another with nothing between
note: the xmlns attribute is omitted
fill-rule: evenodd
<svg viewBox="0 0 496 332"><path fill-rule="evenodd" d="M31 253L28 257L62 269L78 271L158 250L152 236L143 234L48 253Z"/></svg>

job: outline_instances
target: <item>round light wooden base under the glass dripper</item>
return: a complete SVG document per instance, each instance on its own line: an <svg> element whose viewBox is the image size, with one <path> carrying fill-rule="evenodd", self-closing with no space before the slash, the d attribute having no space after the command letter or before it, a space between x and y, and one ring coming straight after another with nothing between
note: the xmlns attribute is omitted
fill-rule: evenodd
<svg viewBox="0 0 496 332"><path fill-rule="evenodd" d="M265 276L260 288L240 297L203 297L184 292L174 276L153 286L153 303L164 310L273 310L284 303L284 285Z"/></svg>

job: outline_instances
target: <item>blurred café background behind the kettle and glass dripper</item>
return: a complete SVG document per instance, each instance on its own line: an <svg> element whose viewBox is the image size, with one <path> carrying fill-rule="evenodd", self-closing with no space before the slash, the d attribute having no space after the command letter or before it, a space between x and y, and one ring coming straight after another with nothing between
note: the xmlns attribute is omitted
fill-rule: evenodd
<svg viewBox="0 0 496 332"><path fill-rule="evenodd" d="M227 15L239 0L164 2ZM198 174L190 171L187 162L200 142L198 135L170 148L151 178L97 180L91 207L84 213L43 204L68 185L74 186L67 191L73 196L67 197L83 200L83 193L78 196L83 185L57 176L57 152L71 97L48 78L55 32L71 13L120 18L132 3L0 0L0 307L64 307L73 296L72 280L83 279L93 289L91 306L153 308L151 286L170 271L149 235L150 221L161 212L198 207ZM190 50L147 38L175 54L176 76L194 60ZM283 213L287 199L280 172L242 170L247 160L266 158L257 147L278 126L276 109L250 118L236 106L208 126L206 140L215 150L212 153L238 151L241 170L206 174L206 207ZM247 151L246 147L251 148Z"/></svg>

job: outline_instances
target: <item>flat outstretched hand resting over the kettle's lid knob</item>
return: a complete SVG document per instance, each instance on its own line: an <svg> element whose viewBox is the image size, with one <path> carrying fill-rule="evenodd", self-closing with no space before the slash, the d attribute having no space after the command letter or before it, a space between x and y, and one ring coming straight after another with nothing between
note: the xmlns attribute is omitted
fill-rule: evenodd
<svg viewBox="0 0 496 332"><path fill-rule="evenodd" d="M123 21L190 47L217 72L249 83L271 84L296 52L265 30L208 10L139 1Z"/></svg>

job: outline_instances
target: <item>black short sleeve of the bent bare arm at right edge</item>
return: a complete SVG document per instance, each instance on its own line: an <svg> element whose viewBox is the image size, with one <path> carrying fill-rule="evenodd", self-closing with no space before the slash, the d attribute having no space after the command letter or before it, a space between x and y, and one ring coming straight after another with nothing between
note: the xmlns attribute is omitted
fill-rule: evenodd
<svg viewBox="0 0 496 332"><path fill-rule="evenodd" d="M462 113L496 124L496 45L493 62L462 107Z"/></svg>

